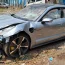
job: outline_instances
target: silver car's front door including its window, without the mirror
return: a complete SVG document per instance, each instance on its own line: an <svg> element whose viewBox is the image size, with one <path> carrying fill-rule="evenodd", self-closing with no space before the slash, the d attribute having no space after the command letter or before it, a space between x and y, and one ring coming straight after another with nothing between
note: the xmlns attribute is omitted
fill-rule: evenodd
<svg viewBox="0 0 65 65"><path fill-rule="evenodd" d="M51 18L52 21L45 21L44 23L42 23L42 20L45 18ZM64 24L65 23L62 22L60 8L56 8L56 9L54 8L50 10L37 23L36 44L54 40L63 36Z"/></svg>

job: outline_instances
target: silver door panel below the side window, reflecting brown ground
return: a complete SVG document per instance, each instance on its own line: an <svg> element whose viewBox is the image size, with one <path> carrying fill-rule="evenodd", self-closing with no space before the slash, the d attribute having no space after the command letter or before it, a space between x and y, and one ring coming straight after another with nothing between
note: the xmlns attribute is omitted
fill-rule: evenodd
<svg viewBox="0 0 65 65"><path fill-rule="evenodd" d="M37 28L37 43L40 43L40 41L43 43L46 40L53 40L56 37L64 35L63 33L65 33L65 18L63 20L58 20L54 20L50 23L45 23L44 25L39 23L39 27Z"/></svg>

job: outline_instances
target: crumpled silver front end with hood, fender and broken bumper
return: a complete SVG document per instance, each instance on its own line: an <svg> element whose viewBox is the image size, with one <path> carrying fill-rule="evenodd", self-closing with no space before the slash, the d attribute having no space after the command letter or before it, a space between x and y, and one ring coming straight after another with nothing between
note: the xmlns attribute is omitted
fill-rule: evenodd
<svg viewBox="0 0 65 65"><path fill-rule="evenodd" d="M0 15L0 48L9 42L11 36L23 31L26 24L24 22L24 20L13 18L10 15Z"/></svg>

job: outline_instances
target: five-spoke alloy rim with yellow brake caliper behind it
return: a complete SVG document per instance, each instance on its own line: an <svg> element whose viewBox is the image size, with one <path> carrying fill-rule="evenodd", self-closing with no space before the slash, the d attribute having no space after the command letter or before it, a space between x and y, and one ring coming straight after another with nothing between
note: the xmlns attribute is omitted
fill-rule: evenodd
<svg viewBox="0 0 65 65"><path fill-rule="evenodd" d="M13 57L19 57L21 54L24 54L28 50L28 39L24 36L15 38L9 47L10 55Z"/></svg>

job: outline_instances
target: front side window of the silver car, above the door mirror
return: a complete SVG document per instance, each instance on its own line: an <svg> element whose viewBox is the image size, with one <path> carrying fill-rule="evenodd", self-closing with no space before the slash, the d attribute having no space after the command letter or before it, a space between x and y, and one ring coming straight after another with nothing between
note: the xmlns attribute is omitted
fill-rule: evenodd
<svg viewBox="0 0 65 65"><path fill-rule="evenodd" d="M44 16L44 18L52 18L52 19L57 19L60 17L61 17L61 11L58 9L53 9Z"/></svg>

